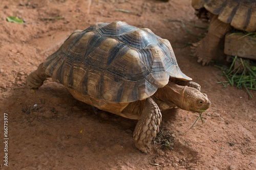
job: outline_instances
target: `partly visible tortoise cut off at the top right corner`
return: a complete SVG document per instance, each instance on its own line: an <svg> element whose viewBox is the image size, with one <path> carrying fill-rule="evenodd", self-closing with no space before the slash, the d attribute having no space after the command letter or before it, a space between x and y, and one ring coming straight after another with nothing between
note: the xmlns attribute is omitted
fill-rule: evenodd
<svg viewBox="0 0 256 170"><path fill-rule="evenodd" d="M218 44L232 27L256 31L255 0L192 0L192 6L198 10L199 17L207 13L210 19L208 34L192 47L202 65L218 58Z"/></svg>

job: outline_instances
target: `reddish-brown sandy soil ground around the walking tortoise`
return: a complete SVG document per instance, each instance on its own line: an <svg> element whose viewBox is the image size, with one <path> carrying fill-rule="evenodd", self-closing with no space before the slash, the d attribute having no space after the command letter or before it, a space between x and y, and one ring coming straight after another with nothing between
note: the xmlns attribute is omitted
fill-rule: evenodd
<svg viewBox="0 0 256 170"><path fill-rule="evenodd" d="M0 169L4 165L4 113L8 114L9 169L256 169L256 92L223 89L220 70L202 67L188 42L207 26L189 0L3 0L0 4ZM115 10L129 10L130 13ZM27 24L6 21L18 16ZM42 18L62 16L65 19ZM152 142L150 154L134 145L137 120L126 119L75 100L51 79L36 90L28 74L76 29L95 22L126 21L168 39L182 71L202 86L212 106L204 125L191 128L198 114L181 109L163 112L161 129L174 137L174 150ZM82 131L81 131L82 130ZM158 164L158 165L156 165Z"/></svg>

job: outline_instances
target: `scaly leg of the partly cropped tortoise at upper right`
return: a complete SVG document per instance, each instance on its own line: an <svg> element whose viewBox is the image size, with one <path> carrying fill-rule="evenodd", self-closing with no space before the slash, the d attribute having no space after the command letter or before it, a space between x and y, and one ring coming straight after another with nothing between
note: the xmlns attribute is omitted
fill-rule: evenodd
<svg viewBox="0 0 256 170"><path fill-rule="evenodd" d="M202 61L202 65L207 65L210 60L216 59L218 56L218 45L225 34L230 30L230 24L222 22L218 19L218 15L210 14L210 25L208 34L199 42L193 43L193 51L198 57L198 62Z"/></svg>

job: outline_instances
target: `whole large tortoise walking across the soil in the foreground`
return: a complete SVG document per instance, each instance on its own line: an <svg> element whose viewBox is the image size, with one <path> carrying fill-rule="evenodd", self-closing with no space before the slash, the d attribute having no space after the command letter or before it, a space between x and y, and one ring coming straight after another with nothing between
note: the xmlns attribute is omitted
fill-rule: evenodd
<svg viewBox="0 0 256 170"><path fill-rule="evenodd" d="M178 106L200 113L211 104L181 72L168 40L121 21L75 30L27 84L38 88L50 77L79 101L138 119L133 137L145 153L159 132L160 110Z"/></svg>

